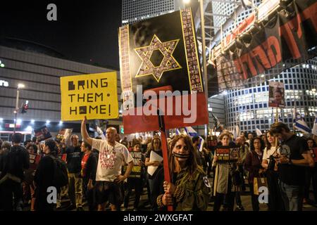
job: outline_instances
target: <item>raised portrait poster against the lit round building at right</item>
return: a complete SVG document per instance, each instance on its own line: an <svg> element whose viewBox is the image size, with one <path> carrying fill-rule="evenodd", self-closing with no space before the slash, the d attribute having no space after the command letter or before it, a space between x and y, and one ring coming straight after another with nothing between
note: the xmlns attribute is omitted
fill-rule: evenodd
<svg viewBox="0 0 317 225"><path fill-rule="evenodd" d="M285 108L284 83L268 82L268 107Z"/></svg>

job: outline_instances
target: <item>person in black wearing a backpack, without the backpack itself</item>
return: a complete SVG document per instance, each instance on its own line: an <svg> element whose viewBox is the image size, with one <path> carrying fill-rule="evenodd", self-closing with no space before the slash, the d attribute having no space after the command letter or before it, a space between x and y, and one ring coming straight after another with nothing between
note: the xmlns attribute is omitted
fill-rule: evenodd
<svg viewBox="0 0 317 225"><path fill-rule="evenodd" d="M44 158L39 161L37 170L35 172L35 210L39 211L53 211L54 203L48 203L47 188L54 186L54 159L57 155L57 146L54 140L45 141L43 152ZM53 155L53 158L51 157ZM56 193L57 194L57 193Z"/></svg>

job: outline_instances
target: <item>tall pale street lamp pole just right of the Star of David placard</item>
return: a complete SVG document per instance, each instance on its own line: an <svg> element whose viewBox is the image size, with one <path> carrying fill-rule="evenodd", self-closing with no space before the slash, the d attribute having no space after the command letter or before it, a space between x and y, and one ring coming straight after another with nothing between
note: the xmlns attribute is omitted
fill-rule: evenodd
<svg viewBox="0 0 317 225"><path fill-rule="evenodd" d="M183 0L184 4L189 4L190 0ZM204 75L204 89L206 96L206 105L208 105L208 75L207 75L207 61L206 61L206 35L205 35L205 20L204 20L204 0L199 0L199 10L200 10L200 23L201 23L201 54L203 56L203 75ZM208 112L208 106L207 106ZM208 121L209 124L209 121ZM208 124L205 124L205 135L208 135Z"/></svg>

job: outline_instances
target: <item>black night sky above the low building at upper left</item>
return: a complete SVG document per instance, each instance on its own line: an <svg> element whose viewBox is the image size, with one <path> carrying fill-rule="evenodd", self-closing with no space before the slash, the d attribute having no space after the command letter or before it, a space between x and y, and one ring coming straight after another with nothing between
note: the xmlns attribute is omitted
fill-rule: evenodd
<svg viewBox="0 0 317 225"><path fill-rule="evenodd" d="M46 6L57 6L49 21ZM0 6L0 39L25 39L49 46L66 59L119 68L121 0L8 1Z"/></svg>

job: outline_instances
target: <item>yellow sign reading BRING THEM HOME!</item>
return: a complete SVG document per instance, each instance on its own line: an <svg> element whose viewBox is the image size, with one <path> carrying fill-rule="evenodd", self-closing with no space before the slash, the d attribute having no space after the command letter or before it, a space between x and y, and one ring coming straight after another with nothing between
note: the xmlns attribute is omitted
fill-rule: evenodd
<svg viewBox="0 0 317 225"><path fill-rule="evenodd" d="M116 72L61 77L61 120L118 118Z"/></svg>

